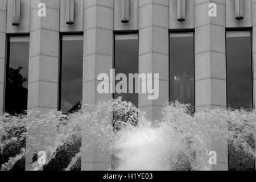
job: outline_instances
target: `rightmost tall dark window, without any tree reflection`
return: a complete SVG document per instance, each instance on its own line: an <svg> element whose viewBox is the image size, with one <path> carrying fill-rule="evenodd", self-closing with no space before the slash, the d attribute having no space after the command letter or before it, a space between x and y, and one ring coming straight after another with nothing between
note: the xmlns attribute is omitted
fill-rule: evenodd
<svg viewBox="0 0 256 182"><path fill-rule="evenodd" d="M253 109L252 70L251 32L227 32L226 74L229 108Z"/></svg>

